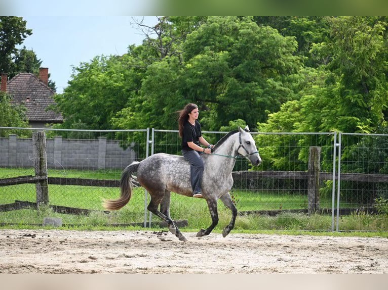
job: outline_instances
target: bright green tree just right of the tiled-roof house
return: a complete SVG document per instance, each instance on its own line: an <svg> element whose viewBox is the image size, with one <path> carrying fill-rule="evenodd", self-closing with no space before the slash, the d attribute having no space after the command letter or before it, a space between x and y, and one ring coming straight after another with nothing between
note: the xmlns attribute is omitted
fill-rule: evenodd
<svg viewBox="0 0 388 290"><path fill-rule="evenodd" d="M125 57L123 57L125 58ZM127 103L131 73L122 57L95 57L73 68L62 94L54 96L64 122L57 127L110 129L110 119Z"/></svg>

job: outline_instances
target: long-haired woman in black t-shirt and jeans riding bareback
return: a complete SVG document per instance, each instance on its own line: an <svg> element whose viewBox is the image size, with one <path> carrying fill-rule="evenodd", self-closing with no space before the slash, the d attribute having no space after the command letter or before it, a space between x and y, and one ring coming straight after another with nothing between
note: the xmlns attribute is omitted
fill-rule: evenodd
<svg viewBox="0 0 388 290"><path fill-rule="evenodd" d="M190 166L190 180L192 197L202 198L201 181L204 173L204 162L200 156L202 153L210 154L214 146L202 136L201 124L198 122L198 106L187 104L179 111L179 136L182 138L182 155ZM201 147L203 144L207 148Z"/></svg>

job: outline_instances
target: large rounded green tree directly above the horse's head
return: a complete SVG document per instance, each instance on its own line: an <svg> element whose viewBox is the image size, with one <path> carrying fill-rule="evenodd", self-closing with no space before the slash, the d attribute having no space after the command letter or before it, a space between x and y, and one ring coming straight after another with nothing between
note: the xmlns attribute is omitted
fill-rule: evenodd
<svg viewBox="0 0 388 290"><path fill-rule="evenodd" d="M184 60L193 71L187 78L202 90L191 99L214 110L212 129L244 119L254 129L266 111L296 98L301 68L297 43L277 30L258 26L249 17L210 17L187 36Z"/></svg>

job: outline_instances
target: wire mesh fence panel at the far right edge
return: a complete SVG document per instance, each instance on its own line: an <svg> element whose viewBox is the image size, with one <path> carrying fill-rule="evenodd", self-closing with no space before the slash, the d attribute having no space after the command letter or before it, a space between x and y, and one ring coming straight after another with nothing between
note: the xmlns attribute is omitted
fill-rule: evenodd
<svg viewBox="0 0 388 290"><path fill-rule="evenodd" d="M357 208L351 214L364 218L359 229L367 230L368 214L388 217L388 135L340 133L338 145L337 209ZM337 216L337 230L343 223ZM386 230L386 220L373 223Z"/></svg>

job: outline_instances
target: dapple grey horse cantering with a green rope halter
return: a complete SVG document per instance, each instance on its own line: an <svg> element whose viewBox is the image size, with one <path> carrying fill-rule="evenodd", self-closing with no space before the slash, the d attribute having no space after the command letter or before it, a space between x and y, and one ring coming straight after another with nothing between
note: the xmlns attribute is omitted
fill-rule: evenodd
<svg viewBox="0 0 388 290"><path fill-rule="evenodd" d="M210 234L218 223L217 200L220 199L231 210L232 217L223 229L225 237L234 228L237 208L232 202L229 190L233 185L231 172L237 158L246 158L252 165L261 163L255 140L249 132L248 126L230 131L214 146L211 154L202 154L204 173L202 177L202 198L207 202L212 218L211 225L201 229L197 236ZM136 176L133 173L137 172ZM107 210L119 210L131 199L134 184L143 186L151 197L147 210L167 222L172 234L181 241L186 237L181 233L170 217L171 191L191 197L190 164L183 156L165 153L153 154L140 162L133 162L122 172L120 187L121 196L117 200L104 200L103 207ZM160 210L158 210L160 205Z"/></svg>

